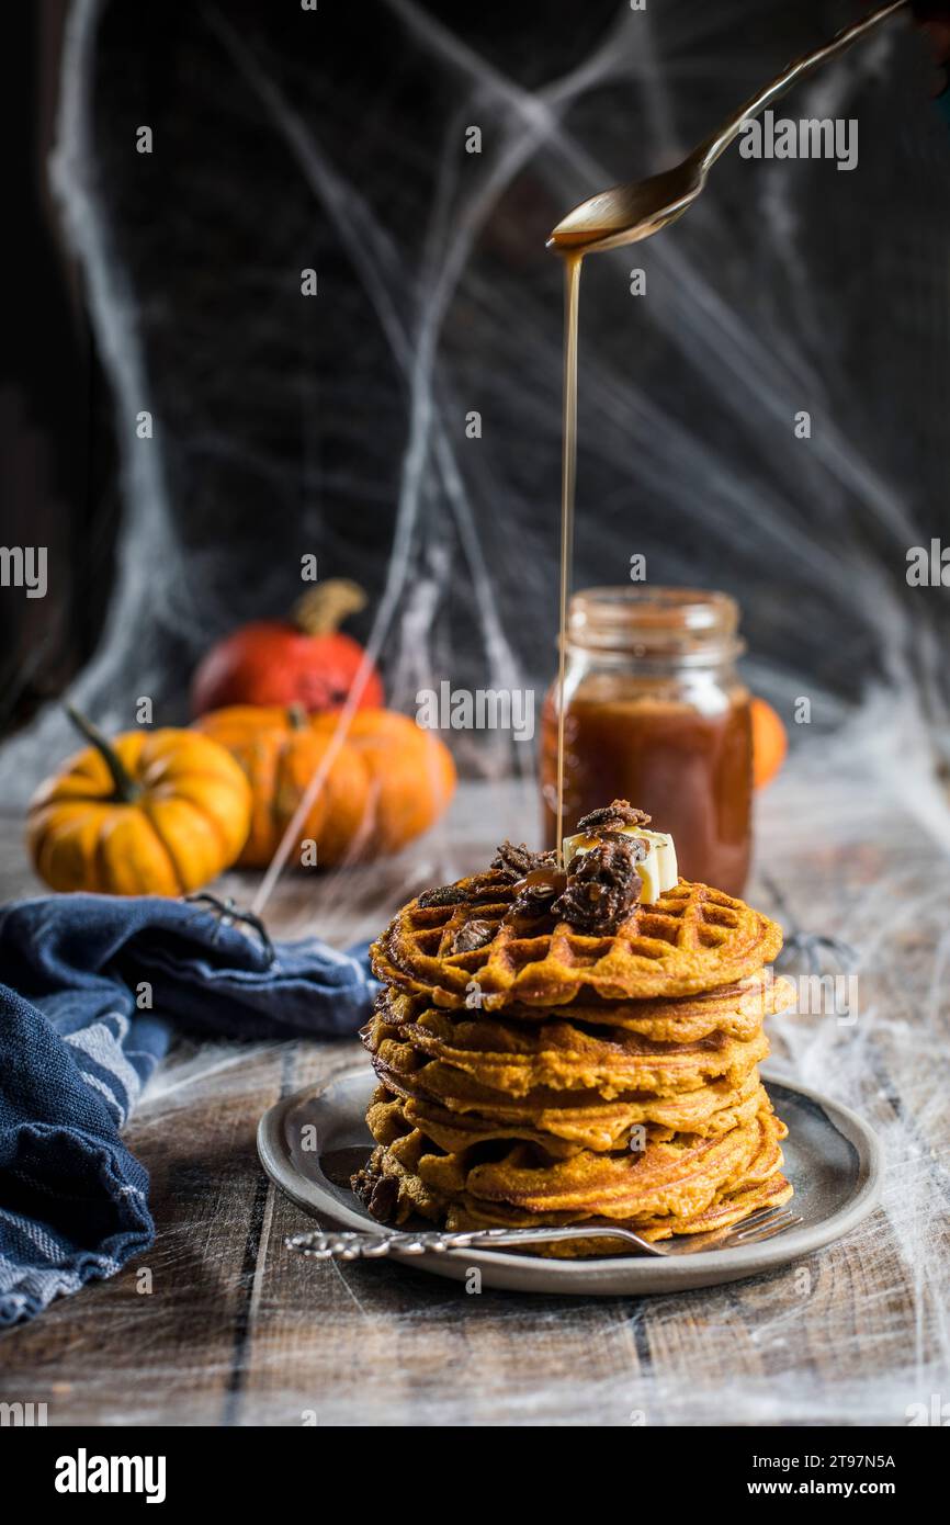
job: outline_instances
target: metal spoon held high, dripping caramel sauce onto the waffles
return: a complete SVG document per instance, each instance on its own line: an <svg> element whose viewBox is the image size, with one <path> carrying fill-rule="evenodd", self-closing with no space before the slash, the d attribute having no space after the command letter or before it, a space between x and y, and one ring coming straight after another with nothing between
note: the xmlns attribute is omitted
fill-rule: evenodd
<svg viewBox="0 0 950 1525"><path fill-rule="evenodd" d="M650 238L651 233L659 233L669 223L676 223L695 201L706 185L706 177L712 165L729 148L729 143L738 137L743 124L749 117L758 116L759 111L764 111L773 101L785 95L798 79L810 75L830 58L843 53L846 47L851 47L859 38L866 37L881 21L886 21L887 17L906 9L907 0L892 0L891 5L874 11L863 21L855 21L854 26L837 32L825 47L819 47L814 53L805 53L804 58L798 58L793 64L788 64L778 79L773 79L764 90L752 96L746 105L740 107L735 116L729 117L714 137L701 143L676 169L666 169L662 175L651 175L650 180L633 180L630 185L601 191L587 201L581 201L554 229L547 239L547 247L554 247L561 253L570 250L587 253L590 250L619 249L621 244L636 244L642 238Z"/></svg>

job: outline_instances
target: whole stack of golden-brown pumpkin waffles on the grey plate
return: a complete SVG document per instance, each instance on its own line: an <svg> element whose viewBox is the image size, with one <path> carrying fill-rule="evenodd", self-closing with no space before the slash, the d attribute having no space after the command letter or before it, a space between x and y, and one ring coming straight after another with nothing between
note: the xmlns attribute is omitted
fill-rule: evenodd
<svg viewBox="0 0 950 1525"><path fill-rule="evenodd" d="M367 1211L659 1240L787 1202L785 1127L758 1072L762 1022L793 994L770 971L779 927L679 880L613 930L581 930L525 894L511 851L410 901L372 949Z"/></svg>

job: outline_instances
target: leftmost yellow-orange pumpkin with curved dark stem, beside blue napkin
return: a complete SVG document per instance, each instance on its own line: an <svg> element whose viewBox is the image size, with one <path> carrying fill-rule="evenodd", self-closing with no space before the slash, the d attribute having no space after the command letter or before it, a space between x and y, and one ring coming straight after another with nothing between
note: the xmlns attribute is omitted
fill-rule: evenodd
<svg viewBox="0 0 950 1525"><path fill-rule="evenodd" d="M34 795L27 845L52 889L183 895L229 868L250 824L250 787L217 741L130 730L114 741L82 715L87 741Z"/></svg>

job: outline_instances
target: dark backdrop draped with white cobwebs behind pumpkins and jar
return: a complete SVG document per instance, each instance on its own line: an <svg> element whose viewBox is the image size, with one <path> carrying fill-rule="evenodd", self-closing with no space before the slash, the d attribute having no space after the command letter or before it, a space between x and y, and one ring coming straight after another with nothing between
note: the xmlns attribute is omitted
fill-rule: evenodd
<svg viewBox="0 0 950 1525"><path fill-rule="evenodd" d="M393 705L442 676L544 685L544 238L860 9L8 8L2 543L47 544L50 590L0 589L5 795L64 750L44 705L69 685L107 724L142 694L183 718L200 653L284 613L303 552L371 593L354 630ZM724 587L776 703L807 692L834 723L912 686L939 743L945 590L904 576L909 546L947 535L950 133L930 72L889 23L778 108L857 117L854 172L733 149L680 224L589 262L575 584L624 581L643 552L653 583Z"/></svg>

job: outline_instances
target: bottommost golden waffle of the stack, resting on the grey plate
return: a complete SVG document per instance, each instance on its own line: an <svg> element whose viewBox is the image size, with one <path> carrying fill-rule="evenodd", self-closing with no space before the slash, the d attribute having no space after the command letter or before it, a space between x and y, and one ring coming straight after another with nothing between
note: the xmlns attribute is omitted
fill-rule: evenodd
<svg viewBox="0 0 950 1525"><path fill-rule="evenodd" d="M567 1159L525 1142L500 1153L499 1145L444 1151L398 1106L374 1113L374 1122L383 1142L360 1186L371 1211L389 1222L413 1212L450 1228L615 1222L660 1238L700 1232L717 1215L730 1222L730 1211L738 1220L762 1196L778 1202L791 1194L779 1177L785 1128L767 1098L750 1121L711 1138L648 1133L637 1151Z"/></svg>

